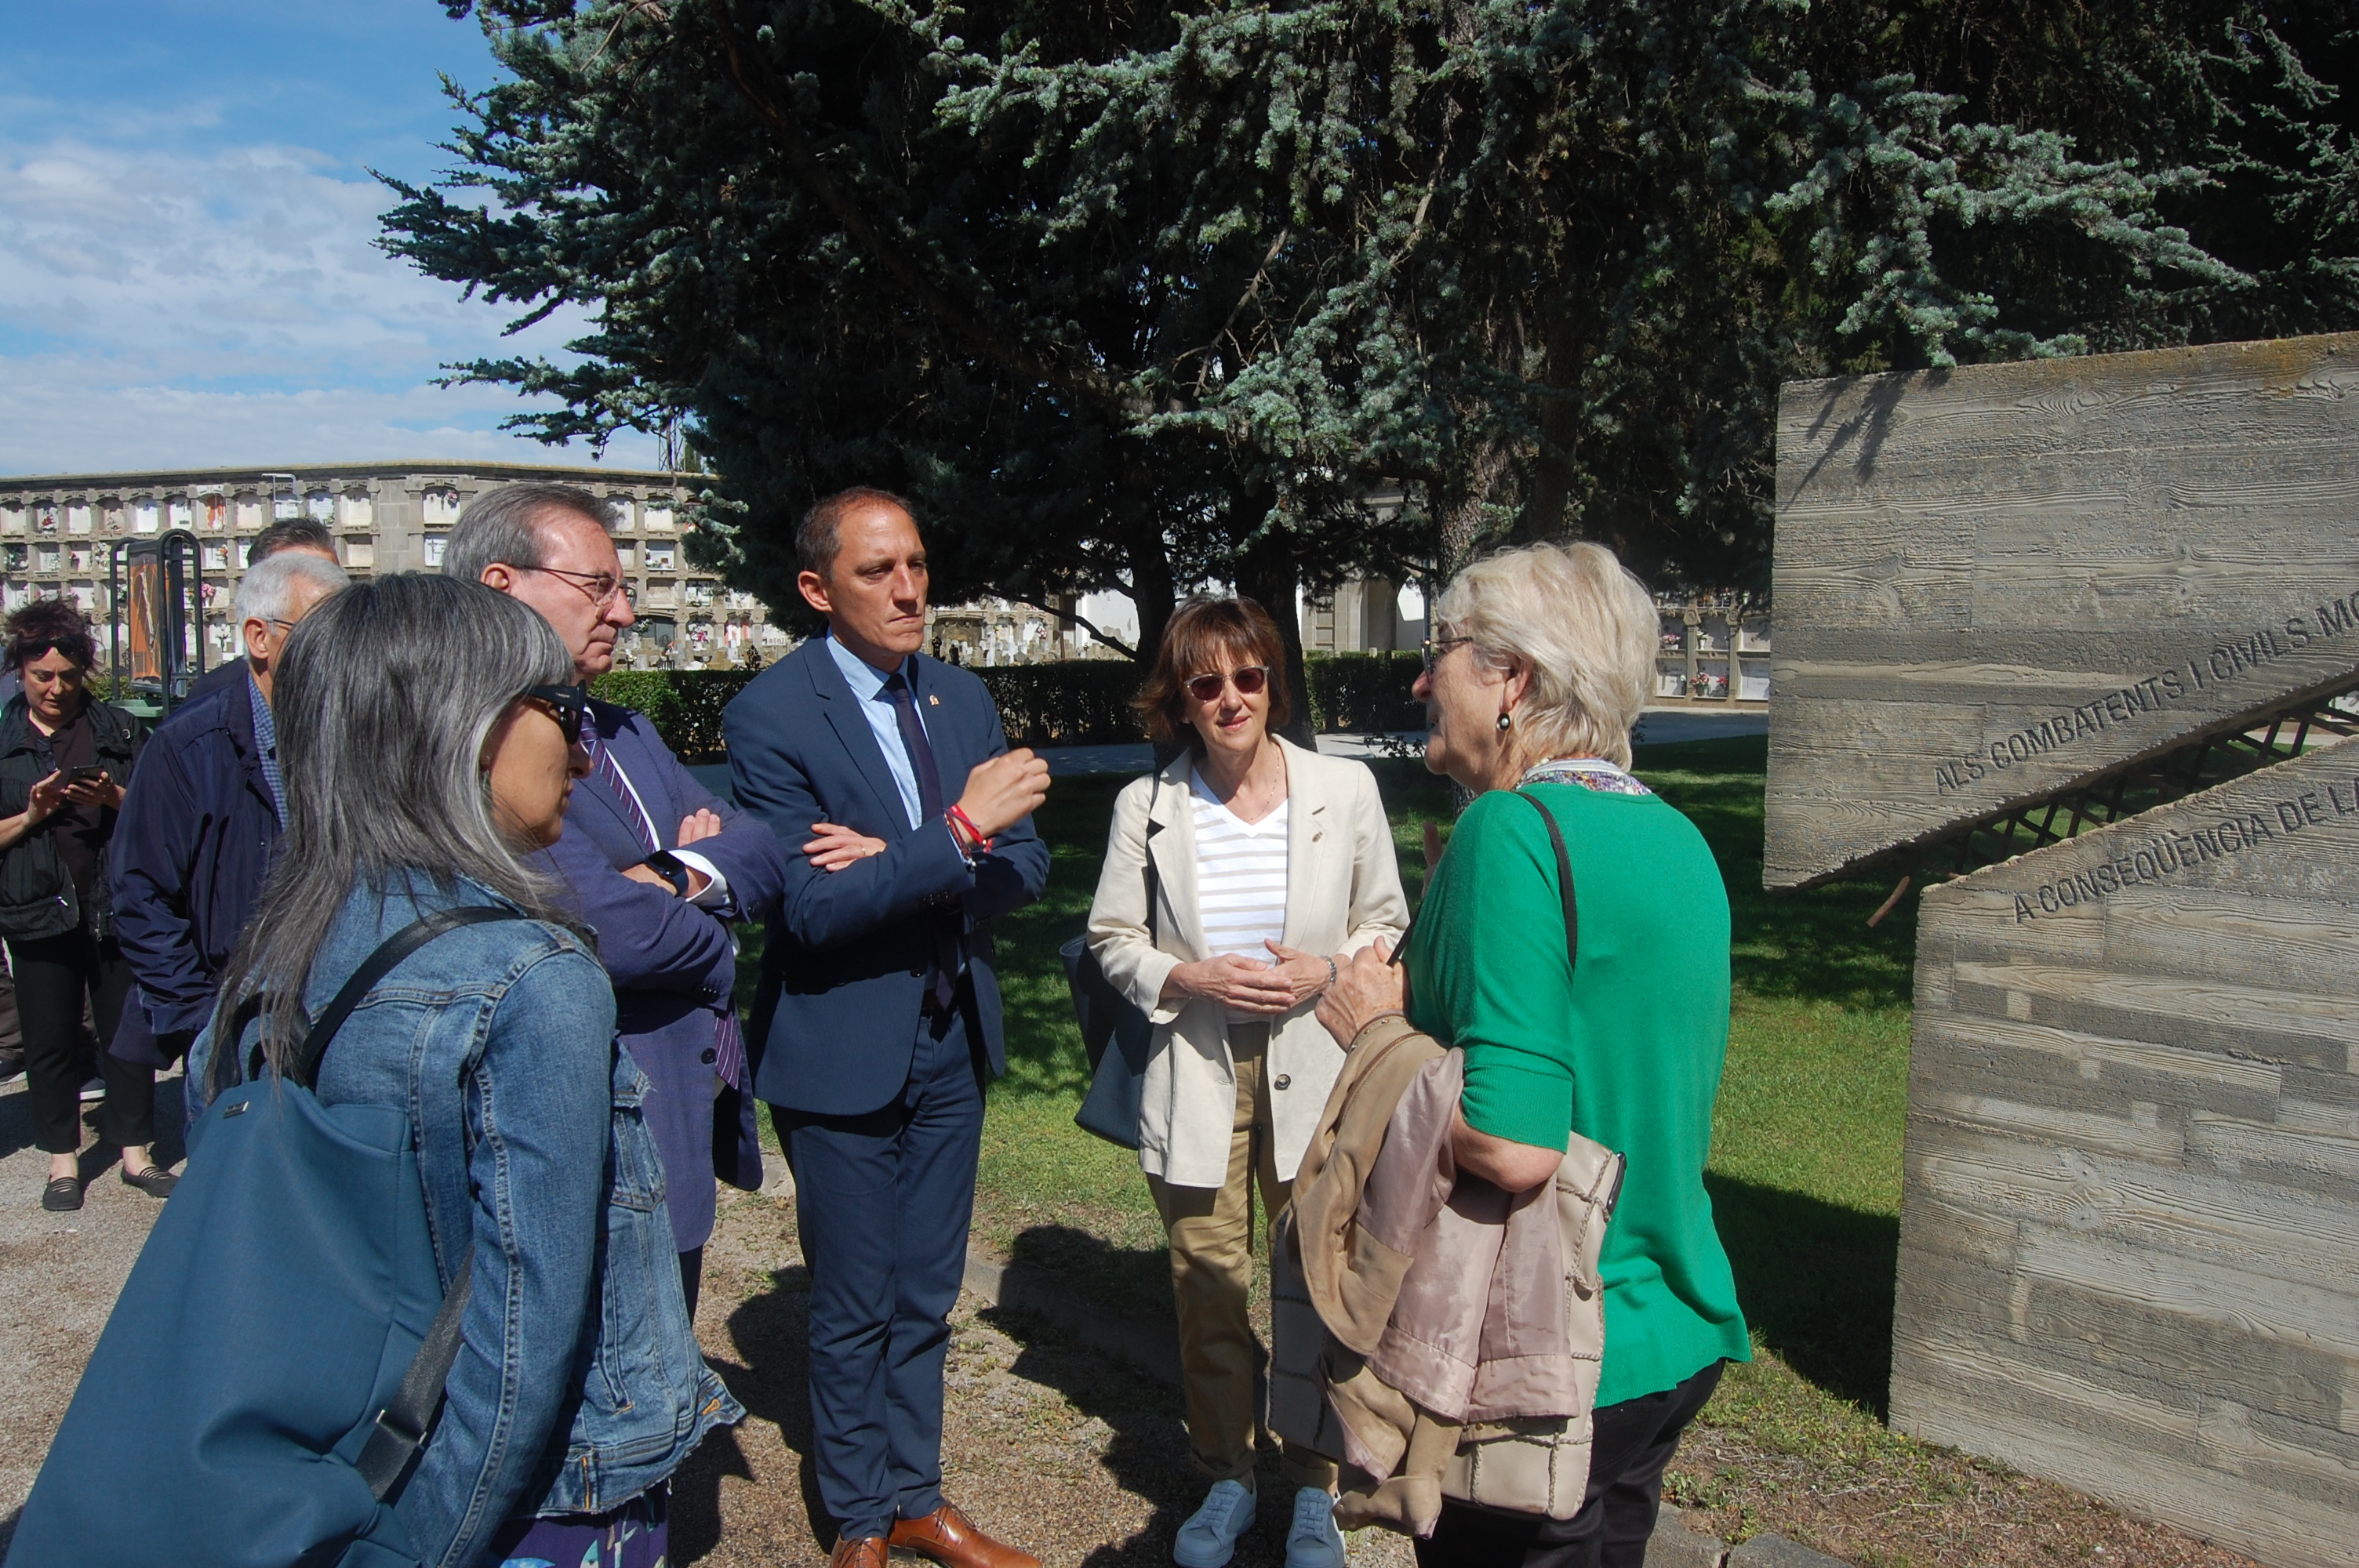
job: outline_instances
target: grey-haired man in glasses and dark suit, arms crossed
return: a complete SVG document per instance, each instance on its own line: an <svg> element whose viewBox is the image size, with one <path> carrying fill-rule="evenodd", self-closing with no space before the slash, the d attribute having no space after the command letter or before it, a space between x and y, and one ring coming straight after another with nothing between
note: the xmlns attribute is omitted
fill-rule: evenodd
<svg viewBox="0 0 2359 1568"><path fill-rule="evenodd" d="M613 667L635 615L606 502L554 483L514 483L467 502L443 571L521 599L573 651L573 679ZM731 920L767 915L786 875L769 828L679 766L656 726L590 703L590 773L566 802L566 832L543 851L564 877L613 979L616 1028L649 1078L642 1115L663 1153L679 1283L696 1316L712 1177L762 1186L753 1073L736 1016Z"/></svg>

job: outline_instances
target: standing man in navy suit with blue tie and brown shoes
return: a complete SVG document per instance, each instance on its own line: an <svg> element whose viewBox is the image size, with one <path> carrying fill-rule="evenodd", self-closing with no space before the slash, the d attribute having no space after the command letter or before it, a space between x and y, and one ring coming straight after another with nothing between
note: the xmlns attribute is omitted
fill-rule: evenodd
<svg viewBox="0 0 2359 1568"><path fill-rule="evenodd" d="M918 653L908 502L845 490L795 535L828 618L724 714L738 804L788 849L762 950L755 1089L795 1172L811 1269L811 1462L833 1568L887 1549L1038 1568L941 1497L941 1363L967 1259L984 1078L1007 1066L995 915L1040 896L1047 764L991 693Z"/></svg>

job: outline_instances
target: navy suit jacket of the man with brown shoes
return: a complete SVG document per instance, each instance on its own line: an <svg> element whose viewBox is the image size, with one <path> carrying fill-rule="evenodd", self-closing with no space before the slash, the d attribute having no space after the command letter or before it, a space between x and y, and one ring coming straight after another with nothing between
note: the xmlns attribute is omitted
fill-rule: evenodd
<svg viewBox="0 0 2359 1568"><path fill-rule="evenodd" d="M967 773L1007 750L998 707L970 672L922 653L908 658L908 679L941 797L955 802ZM946 915L965 931L991 1073L1005 1073L988 922L1038 898L1047 882L1047 844L1031 818L998 835L972 870L946 823L911 828L878 736L819 637L729 703L722 736L738 804L767 821L786 851L786 894L748 1030L748 1049L762 1054L755 1092L819 1115L892 1103L908 1082L934 924ZM802 854L811 823L856 828L887 849L819 870Z"/></svg>

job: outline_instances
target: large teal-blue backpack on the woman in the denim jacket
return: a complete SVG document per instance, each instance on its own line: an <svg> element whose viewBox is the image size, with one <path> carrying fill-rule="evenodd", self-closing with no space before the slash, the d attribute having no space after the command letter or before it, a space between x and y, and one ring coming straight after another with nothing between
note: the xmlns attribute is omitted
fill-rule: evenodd
<svg viewBox="0 0 2359 1568"><path fill-rule="evenodd" d="M524 915L469 905L389 936L290 1073L267 1078L255 1047L245 1082L189 1129L186 1174L73 1391L9 1568L415 1568L392 1502L441 1408L474 1252L443 1294L410 1118L323 1106L311 1087L394 964L486 920ZM215 1045L217 1066L236 1054L236 1035Z"/></svg>

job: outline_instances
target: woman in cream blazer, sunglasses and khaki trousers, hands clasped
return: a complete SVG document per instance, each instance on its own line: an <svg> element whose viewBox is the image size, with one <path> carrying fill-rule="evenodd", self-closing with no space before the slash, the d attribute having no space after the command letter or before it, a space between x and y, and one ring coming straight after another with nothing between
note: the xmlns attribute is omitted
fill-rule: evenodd
<svg viewBox="0 0 2359 1568"><path fill-rule="evenodd" d="M1281 660L1250 599L1172 615L1139 714L1189 745L1116 799L1090 905L1090 950L1156 1026L1139 1167L1172 1243L1189 1443L1213 1478L1172 1544L1182 1568L1227 1563L1255 1514L1253 1188L1264 1221L1286 1207L1342 1070L1319 995L1335 957L1408 924L1375 776L1269 733L1286 722ZM1288 1452L1286 1471L1288 1568L1340 1568L1335 1467Z"/></svg>

